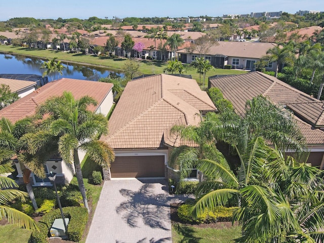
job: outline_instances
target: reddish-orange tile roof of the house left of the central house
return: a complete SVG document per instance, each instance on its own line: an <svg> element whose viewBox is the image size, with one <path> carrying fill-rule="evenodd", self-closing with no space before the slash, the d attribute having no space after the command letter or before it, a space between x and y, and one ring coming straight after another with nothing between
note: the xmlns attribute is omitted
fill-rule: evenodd
<svg viewBox="0 0 324 243"><path fill-rule="evenodd" d="M89 110L94 111L107 96L111 88L112 84L109 83L61 78L38 88L31 94L0 110L0 117L6 117L15 123L19 119L33 115L38 105L53 96L62 95L64 91L71 92L75 99L85 95L93 97L98 102L98 105L89 106Z"/></svg>

